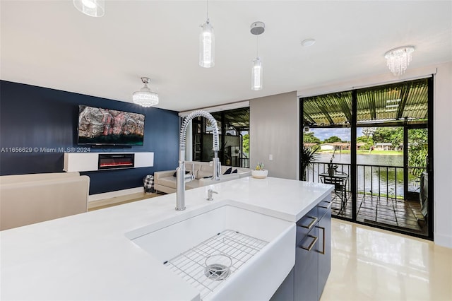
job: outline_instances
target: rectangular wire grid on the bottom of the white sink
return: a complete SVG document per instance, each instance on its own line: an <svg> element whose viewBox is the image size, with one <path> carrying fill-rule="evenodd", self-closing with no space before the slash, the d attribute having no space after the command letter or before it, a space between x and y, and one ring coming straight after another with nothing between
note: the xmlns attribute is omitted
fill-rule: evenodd
<svg viewBox="0 0 452 301"><path fill-rule="evenodd" d="M227 281L240 266L251 259L268 242L234 230L224 230L201 242L173 259L165 261L174 273L184 278L201 293L201 299L213 292L218 285ZM206 259L213 254L225 254L232 259L232 266L224 280L218 281L206 276Z"/></svg>

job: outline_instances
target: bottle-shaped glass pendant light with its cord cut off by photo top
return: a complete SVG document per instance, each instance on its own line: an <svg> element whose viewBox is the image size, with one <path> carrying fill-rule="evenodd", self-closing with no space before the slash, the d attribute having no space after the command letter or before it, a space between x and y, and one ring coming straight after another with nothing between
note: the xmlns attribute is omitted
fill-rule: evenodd
<svg viewBox="0 0 452 301"><path fill-rule="evenodd" d="M215 65L215 35L209 20L208 1L206 2L207 20L201 25L202 30L199 35L199 66L210 68Z"/></svg>

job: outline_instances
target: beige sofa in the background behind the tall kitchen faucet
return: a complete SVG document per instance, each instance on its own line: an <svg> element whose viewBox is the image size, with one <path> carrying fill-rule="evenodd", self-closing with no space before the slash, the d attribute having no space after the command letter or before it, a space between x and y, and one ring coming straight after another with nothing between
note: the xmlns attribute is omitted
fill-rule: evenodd
<svg viewBox="0 0 452 301"><path fill-rule="evenodd" d="M229 168L232 168L231 171L237 170L237 173L223 175ZM213 179L208 178L212 176L211 163L186 161L185 169L195 176L193 181L185 183L185 189L203 187L218 182L230 181L241 177L249 177L251 175L249 168L222 166L220 181L214 181ZM176 177L174 177L174 172L176 172L176 170L154 172L154 189L167 194L176 192Z"/></svg>

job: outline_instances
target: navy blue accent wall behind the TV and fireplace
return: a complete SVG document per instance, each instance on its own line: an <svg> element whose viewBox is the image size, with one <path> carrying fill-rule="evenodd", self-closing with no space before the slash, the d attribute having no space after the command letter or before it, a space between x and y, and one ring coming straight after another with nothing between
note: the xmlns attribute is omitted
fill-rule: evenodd
<svg viewBox="0 0 452 301"><path fill-rule="evenodd" d="M90 177L90 194L141 187L145 175L177 167L177 112L0 81L0 175L63 172L64 153L58 149L78 147L78 105L145 114L143 146L90 148L91 152L154 153L153 167L83 172Z"/></svg>

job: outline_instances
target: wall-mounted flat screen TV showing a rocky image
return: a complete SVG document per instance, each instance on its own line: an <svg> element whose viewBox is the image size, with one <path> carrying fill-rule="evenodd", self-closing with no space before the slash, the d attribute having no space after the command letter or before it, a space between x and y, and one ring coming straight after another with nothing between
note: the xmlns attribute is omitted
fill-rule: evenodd
<svg viewBox="0 0 452 301"><path fill-rule="evenodd" d="M142 146L144 114L78 105L78 144Z"/></svg>

